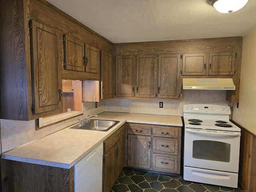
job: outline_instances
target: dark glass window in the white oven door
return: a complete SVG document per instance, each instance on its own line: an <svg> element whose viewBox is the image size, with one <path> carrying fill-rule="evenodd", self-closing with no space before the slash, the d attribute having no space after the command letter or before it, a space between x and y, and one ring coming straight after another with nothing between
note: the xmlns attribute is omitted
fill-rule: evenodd
<svg viewBox="0 0 256 192"><path fill-rule="evenodd" d="M196 159L230 162L230 144L211 140L194 140L192 156Z"/></svg>

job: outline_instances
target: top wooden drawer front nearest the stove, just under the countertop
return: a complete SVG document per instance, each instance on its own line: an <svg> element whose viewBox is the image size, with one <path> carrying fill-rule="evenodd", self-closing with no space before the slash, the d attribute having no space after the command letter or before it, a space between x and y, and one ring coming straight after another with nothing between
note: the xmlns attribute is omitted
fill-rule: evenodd
<svg viewBox="0 0 256 192"><path fill-rule="evenodd" d="M152 128L153 128L153 136L178 138L179 127L152 126Z"/></svg>

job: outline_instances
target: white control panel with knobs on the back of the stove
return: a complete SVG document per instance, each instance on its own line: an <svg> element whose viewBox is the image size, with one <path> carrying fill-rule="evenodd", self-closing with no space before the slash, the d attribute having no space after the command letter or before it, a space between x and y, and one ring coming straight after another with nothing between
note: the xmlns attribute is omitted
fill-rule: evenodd
<svg viewBox="0 0 256 192"><path fill-rule="evenodd" d="M226 105L215 104L186 104L183 106L184 113L199 114L223 114L230 115L230 107Z"/></svg>

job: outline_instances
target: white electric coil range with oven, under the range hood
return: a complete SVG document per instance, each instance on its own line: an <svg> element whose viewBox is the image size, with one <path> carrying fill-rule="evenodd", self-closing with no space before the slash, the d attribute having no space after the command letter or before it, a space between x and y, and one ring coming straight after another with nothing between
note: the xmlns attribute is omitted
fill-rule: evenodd
<svg viewBox="0 0 256 192"><path fill-rule="evenodd" d="M184 180L238 187L241 130L230 114L229 106L183 106Z"/></svg>

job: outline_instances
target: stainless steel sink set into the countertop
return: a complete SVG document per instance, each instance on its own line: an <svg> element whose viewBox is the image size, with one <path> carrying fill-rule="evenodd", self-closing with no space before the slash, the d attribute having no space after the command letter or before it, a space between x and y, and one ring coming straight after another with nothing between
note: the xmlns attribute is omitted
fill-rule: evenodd
<svg viewBox="0 0 256 192"><path fill-rule="evenodd" d="M81 126L75 125L71 129L93 130L93 131L108 131L110 128L118 124L119 121L112 120L91 120Z"/></svg>

